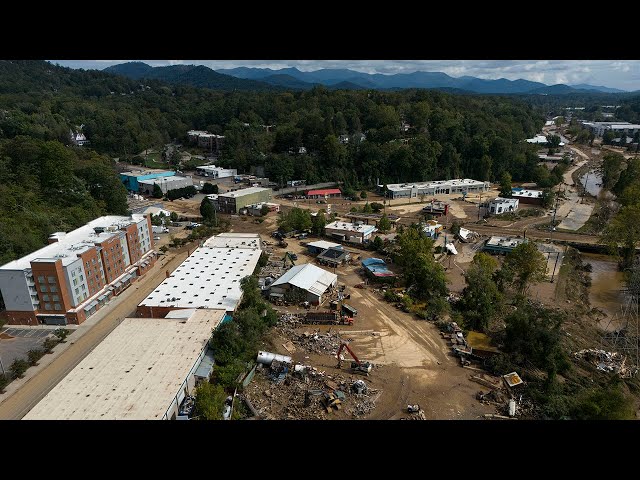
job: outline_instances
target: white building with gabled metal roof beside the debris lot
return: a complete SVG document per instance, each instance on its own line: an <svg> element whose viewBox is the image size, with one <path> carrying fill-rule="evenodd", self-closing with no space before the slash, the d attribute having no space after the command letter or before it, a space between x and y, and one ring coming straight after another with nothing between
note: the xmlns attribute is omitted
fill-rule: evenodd
<svg viewBox="0 0 640 480"><path fill-rule="evenodd" d="M306 292L306 301L314 305L322 303L322 295L338 284L338 276L310 263L291 267L271 284L270 296L283 296L292 288Z"/></svg>

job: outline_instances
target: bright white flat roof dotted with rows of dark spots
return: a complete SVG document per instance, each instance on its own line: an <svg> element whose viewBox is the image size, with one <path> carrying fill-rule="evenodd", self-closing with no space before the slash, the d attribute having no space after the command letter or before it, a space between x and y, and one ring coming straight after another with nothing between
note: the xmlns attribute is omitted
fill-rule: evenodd
<svg viewBox="0 0 640 480"><path fill-rule="evenodd" d="M140 305L233 311L242 297L240 280L253 274L261 253L253 248L196 248Z"/></svg>

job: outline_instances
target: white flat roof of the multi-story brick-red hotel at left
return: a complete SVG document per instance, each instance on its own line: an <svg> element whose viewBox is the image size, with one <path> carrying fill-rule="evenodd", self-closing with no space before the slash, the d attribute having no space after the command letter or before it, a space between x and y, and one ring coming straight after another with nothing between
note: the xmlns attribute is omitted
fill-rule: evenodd
<svg viewBox="0 0 640 480"><path fill-rule="evenodd" d="M50 238L57 238L58 241L42 247L35 252L31 252L18 260L14 260L0 269L3 270L25 270L31 268L31 262L37 260L55 261L62 260L63 265L69 265L77 260L78 255L92 248L95 243L104 242L105 240L123 234L120 228L138 223L144 219L144 215L134 213L131 217L122 217L116 215L107 215L96 218L80 228L76 228L71 232L57 232L51 234ZM93 229L103 227L103 233L96 233ZM112 231L107 231L111 228Z"/></svg>

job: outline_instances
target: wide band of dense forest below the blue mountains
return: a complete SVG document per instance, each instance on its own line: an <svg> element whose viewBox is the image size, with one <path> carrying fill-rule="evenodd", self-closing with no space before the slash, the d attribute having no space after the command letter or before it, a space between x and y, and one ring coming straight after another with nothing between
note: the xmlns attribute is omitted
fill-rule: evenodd
<svg viewBox="0 0 640 480"><path fill-rule="evenodd" d="M83 124L92 148L122 156L206 129L226 137L223 165L241 172L264 165L281 182L295 177L366 186L378 178L495 180L509 171L514 180L535 181L545 175L523 142L539 132L543 116L511 97L325 87L220 92L42 61L0 62L0 92L0 137L66 142L69 128ZM366 141L339 141L360 132ZM300 146L306 154L289 153Z"/></svg>

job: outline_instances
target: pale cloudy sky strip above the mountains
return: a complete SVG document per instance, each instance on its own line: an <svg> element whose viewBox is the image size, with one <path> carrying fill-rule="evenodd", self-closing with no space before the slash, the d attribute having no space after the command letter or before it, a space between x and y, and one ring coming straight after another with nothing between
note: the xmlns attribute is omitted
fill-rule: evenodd
<svg viewBox="0 0 640 480"><path fill-rule="evenodd" d="M65 67L103 69L132 60L50 60ZM640 60L140 60L151 66L206 65L214 70L234 67L302 71L348 68L366 73L444 72L452 77L469 75L484 79L519 78L553 85L604 85L640 90Z"/></svg>

